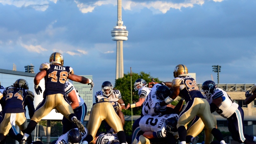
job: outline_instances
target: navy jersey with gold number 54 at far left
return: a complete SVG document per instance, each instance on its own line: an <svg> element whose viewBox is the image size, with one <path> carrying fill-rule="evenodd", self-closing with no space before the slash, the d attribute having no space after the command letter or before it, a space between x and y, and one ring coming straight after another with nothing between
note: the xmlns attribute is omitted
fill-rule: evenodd
<svg viewBox="0 0 256 144"><path fill-rule="evenodd" d="M3 93L5 99L5 108L3 113L23 113L24 98L26 98L27 90L16 87L6 87Z"/></svg>

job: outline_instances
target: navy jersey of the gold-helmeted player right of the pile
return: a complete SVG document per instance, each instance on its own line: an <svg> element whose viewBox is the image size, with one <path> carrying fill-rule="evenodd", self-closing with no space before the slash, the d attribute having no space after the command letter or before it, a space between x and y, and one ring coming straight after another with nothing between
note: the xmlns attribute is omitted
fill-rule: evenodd
<svg viewBox="0 0 256 144"><path fill-rule="evenodd" d="M183 97L186 102L195 97L205 99L197 86L197 82L191 76L179 76L175 78L172 83L172 87L180 86L179 96Z"/></svg>

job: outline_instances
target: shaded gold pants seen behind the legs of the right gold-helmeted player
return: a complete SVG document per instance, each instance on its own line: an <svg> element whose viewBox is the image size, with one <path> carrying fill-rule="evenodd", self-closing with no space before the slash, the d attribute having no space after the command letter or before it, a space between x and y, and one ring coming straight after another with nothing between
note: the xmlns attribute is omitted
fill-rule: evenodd
<svg viewBox="0 0 256 144"><path fill-rule="evenodd" d="M216 118L213 114L211 114L211 116L214 120L214 126L216 127L217 125ZM210 144L213 141L213 135L208 130L206 130L206 128L204 127L203 121L198 116L194 118L192 124L188 128L187 135L192 135L192 137L196 137L197 135L200 134L202 130L204 130L204 143Z"/></svg>

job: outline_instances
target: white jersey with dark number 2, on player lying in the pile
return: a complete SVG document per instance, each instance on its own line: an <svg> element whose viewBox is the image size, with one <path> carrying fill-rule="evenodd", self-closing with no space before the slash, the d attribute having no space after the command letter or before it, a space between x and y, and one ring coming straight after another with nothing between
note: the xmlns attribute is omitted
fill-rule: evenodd
<svg viewBox="0 0 256 144"><path fill-rule="evenodd" d="M178 114L157 114L157 115L146 115L140 119L140 130L142 132L152 131L156 132L157 138L166 137L166 124L165 121L168 118L176 117L178 119Z"/></svg>

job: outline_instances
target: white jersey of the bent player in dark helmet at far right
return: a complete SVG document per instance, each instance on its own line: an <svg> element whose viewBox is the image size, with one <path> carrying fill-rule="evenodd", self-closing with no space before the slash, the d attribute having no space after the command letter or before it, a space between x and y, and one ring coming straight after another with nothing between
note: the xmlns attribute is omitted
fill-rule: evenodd
<svg viewBox="0 0 256 144"><path fill-rule="evenodd" d="M222 98L222 103L216 109L216 112L223 118L229 118L233 113L235 113L239 105L233 102L227 92L220 88L214 90L214 93L209 97L209 99L207 99L207 101L211 104L213 99L217 99L219 97Z"/></svg>

